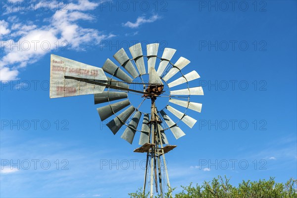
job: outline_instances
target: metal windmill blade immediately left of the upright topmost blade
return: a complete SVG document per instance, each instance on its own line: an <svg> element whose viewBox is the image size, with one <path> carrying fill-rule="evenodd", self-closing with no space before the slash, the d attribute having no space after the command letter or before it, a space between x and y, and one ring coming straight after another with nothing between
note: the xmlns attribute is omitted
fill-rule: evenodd
<svg viewBox="0 0 297 198"><path fill-rule="evenodd" d="M137 69L138 69L139 73L141 75L147 73L141 43L138 43L138 44L136 44L134 46L131 46L129 48L129 50L130 50L130 52L132 54L132 57L133 57L133 59L135 61L135 64L137 66Z"/></svg>

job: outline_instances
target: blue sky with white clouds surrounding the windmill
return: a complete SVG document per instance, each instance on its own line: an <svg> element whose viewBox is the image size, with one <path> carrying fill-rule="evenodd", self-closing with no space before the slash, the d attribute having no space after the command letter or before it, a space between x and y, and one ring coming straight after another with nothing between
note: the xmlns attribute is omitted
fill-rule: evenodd
<svg viewBox="0 0 297 198"><path fill-rule="evenodd" d="M196 125L179 124L187 135L175 140L166 131L178 146L166 155L176 193L218 175L234 185L296 179L296 7L1 1L1 197L117 198L142 187L145 155L133 152L139 134L132 145L114 136L93 95L49 99L50 53L101 67L139 42L177 49L173 62L191 60L183 72L196 70L200 78L190 85L204 91L191 98L203 104L201 113L187 111Z"/></svg>

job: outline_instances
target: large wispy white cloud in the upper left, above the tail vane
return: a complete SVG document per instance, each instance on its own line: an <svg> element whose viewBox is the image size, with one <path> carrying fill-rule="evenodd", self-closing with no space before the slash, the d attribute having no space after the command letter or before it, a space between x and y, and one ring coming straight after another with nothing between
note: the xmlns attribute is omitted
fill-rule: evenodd
<svg viewBox="0 0 297 198"><path fill-rule="evenodd" d="M83 0L78 4L70 3L68 6L71 10L90 10L98 5L99 3ZM12 25L9 36L20 38L1 41L4 55L0 59L0 81L17 79L19 68L38 61L53 49L66 45L64 49L67 50L85 50L84 45L97 45L103 39L114 37L93 28L82 27L78 20L93 21L95 17L80 11L57 10L50 18L44 19L44 23L49 24L43 26L33 24L32 21L20 23L17 18L14 19L14 23L10 22ZM5 21L1 24L8 27ZM5 34L6 32L7 30Z"/></svg>

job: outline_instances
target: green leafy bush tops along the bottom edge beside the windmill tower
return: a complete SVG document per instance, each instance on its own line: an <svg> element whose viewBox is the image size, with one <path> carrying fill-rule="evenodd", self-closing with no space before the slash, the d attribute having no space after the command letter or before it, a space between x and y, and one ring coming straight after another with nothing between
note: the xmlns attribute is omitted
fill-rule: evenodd
<svg viewBox="0 0 297 198"><path fill-rule="evenodd" d="M189 186L182 186L183 191L175 195L175 198L297 198L297 180L289 179L285 184L276 183L273 177L269 180L251 182L243 181L234 187L229 183L226 176L218 176L211 182L203 182L201 186L192 183ZM174 189L169 189L164 198L172 198ZM149 193L143 195L139 189L136 193L128 194L131 198L148 198ZM159 198L155 197L155 198Z"/></svg>

